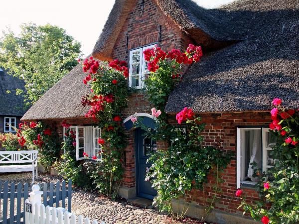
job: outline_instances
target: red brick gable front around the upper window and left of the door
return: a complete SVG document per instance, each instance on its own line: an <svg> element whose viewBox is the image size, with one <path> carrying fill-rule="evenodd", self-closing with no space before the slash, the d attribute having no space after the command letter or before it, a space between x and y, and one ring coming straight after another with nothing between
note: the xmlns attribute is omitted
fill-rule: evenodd
<svg viewBox="0 0 299 224"><path fill-rule="evenodd" d="M137 0L135 8L129 13L114 46L113 58L129 63L131 49L151 44L158 44L164 51L173 48L185 50L191 40L169 17L163 14L155 0L144 0L144 5L142 2L142 0ZM159 29L161 30L160 34ZM135 112L151 113L151 108L142 91L138 91L129 97L128 108L124 110L123 117L126 118ZM135 187L135 132L130 130L127 134L129 145L125 150L124 185Z"/></svg>

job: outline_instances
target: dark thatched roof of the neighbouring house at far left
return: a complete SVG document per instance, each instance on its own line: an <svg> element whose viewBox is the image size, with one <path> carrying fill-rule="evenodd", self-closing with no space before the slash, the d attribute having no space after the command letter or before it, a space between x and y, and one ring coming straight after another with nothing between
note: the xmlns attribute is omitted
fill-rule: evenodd
<svg viewBox="0 0 299 224"><path fill-rule="evenodd" d="M15 95L16 89L25 90L25 83L0 68L0 115L22 116L24 111L24 99ZM10 93L6 93L10 91Z"/></svg>

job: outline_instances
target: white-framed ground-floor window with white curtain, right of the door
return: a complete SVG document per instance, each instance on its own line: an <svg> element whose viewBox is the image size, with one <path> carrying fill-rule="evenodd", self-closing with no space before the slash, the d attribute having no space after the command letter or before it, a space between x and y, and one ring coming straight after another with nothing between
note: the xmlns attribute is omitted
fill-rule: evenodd
<svg viewBox="0 0 299 224"><path fill-rule="evenodd" d="M272 167L275 160L270 151L276 144L276 138L264 127L237 128L237 188L241 185L255 185L254 169L262 172ZM257 166L252 168L252 163Z"/></svg>

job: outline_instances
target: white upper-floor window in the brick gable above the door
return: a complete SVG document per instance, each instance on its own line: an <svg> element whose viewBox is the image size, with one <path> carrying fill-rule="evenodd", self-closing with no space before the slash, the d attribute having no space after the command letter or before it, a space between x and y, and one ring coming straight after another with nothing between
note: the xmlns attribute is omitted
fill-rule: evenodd
<svg viewBox="0 0 299 224"><path fill-rule="evenodd" d="M144 50L153 48L154 45L141 47L130 51L130 68L129 68L129 87L142 89L144 87L144 79L148 70L148 62L144 59Z"/></svg>

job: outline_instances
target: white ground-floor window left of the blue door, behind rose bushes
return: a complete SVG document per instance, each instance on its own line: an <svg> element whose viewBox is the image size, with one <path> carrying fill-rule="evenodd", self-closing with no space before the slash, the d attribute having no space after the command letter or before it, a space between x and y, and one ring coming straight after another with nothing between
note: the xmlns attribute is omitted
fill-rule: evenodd
<svg viewBox="0 0 299 224"><path fill-rule="evenodd" d="M76 160L83 160L83 153L89 157L97 156L102 158L101 145L98 144L98 138L101 136L101 129L92 126L70 126L76 135ZM65 133L65 128L63 129Z"/></svg>

